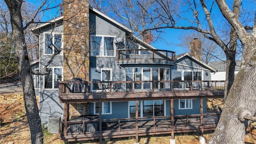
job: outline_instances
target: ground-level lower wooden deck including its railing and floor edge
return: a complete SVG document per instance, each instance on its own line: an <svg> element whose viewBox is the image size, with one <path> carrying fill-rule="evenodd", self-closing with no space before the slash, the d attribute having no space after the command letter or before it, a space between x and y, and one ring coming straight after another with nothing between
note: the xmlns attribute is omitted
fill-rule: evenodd
<svg viewBox="0 0 256 144"><path fill-rule="evenodd" d="M177 132L192 132L214 130L218 124L220 113L203 114L203 121L200 121L200 114L179 115L179 116L158 116L150 118L124 118L101 120L83 120L84 116L67 122L67 135L64 136L64 122L61 125L61 138L67 141L92 140L102 138L121 138L129 136L144 136L153 134L171 134ZM138 130L136 130L136 123ZM75 139L74 139L75 137Z"/></svg>

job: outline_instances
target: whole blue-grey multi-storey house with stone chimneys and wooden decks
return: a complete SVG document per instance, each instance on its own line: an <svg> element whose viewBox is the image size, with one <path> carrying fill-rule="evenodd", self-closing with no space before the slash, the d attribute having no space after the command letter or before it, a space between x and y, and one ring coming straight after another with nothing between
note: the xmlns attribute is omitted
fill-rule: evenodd
<svg viewBox="0 0 256 144"><path fill-rule="evenodd" d="M138 142L143 135L174 139L174 132L215 129L219 115L207 114L206 98L223 97L224 82L217 88L210 81L216 70L200 52L157 49L87 0L67 4L64 16L31 30L40 54L32 68L49 71L34 76L40 118L47 125L60 116L62 139L135 136ZM200 40L191 47L200 50Z"/></svg>

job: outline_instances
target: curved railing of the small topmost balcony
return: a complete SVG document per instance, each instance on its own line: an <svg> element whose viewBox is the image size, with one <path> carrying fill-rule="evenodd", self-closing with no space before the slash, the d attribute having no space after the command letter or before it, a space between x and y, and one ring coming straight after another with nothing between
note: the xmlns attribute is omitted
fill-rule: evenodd
<svg viewBox="0 0 256 144"><path fill-rule="evenodd" d="M134 49L134 50L118 50L117 51L117 62L120 60L165 60L175 62L175 52L169 50L145 50L145 49Z"/></svg>

